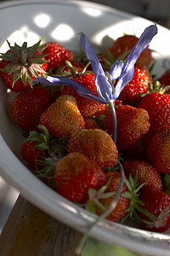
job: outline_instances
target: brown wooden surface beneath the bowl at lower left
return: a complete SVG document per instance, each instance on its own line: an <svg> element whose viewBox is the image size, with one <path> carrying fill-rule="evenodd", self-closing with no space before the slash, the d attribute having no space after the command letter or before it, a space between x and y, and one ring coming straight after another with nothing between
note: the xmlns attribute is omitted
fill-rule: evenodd
<svg viewBox="0 0 170 256"><path fill-rule="evenodd" d="M19 196L0 236L0 255L74 256L81 237Z"/></svg>

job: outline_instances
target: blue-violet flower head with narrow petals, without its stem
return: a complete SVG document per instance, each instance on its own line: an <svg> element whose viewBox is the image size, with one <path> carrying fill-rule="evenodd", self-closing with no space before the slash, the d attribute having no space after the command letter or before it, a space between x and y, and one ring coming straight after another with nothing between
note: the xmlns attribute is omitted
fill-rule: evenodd
<svg viewBox="0 0 170 256"><path fill-rule="evenodd" d="M134 64L138 60L141 52L145 47L147 47L150 40L156 35L156 33L156 24L146 27L140 36L138 43L133 47L127 56L125 63L123 64L122 61L114 62L109 73L104 72L103 67L99 62L97 55L95 55L94 49L89 43L86 35L84 33L80 34L80 44L82 45L82 49L93 67L98 96L94 96L94 94L82 86L82 84L79 84L72 79L62 77L48 76L37 78L32 81L32 84L40 83L44 85L70 85L77 90L77 93L80 96L87 97L96 102L106 104L107 102L115 101L126 84L133 79ZM116 87L112 83L114 79L118 79Z"/></svg>

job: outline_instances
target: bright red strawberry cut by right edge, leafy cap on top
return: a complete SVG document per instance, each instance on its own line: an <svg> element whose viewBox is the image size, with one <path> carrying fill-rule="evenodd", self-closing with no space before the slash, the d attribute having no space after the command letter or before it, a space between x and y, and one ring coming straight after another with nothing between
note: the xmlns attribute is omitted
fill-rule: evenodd
<svg viewBox="0 0 170 256"><path fill-rule="evenodd" d="M138 108L143 108L149 113L151 132L170 128L170 95L149 93L139 102Z"/></svg>

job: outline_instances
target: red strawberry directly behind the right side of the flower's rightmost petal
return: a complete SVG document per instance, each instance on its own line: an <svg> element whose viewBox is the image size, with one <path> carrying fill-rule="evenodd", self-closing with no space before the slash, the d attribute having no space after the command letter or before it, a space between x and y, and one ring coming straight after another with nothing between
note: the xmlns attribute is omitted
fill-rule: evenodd
<svg viewBox="0 0 170 256"><path fill-rule="evenodd" d="M134 66L133 79L122 90L119 99L124 104L136 107L141 100L140 94L147 93L149 83L152 85L153 80L147 67L139 63L136 64Z"/></svg>

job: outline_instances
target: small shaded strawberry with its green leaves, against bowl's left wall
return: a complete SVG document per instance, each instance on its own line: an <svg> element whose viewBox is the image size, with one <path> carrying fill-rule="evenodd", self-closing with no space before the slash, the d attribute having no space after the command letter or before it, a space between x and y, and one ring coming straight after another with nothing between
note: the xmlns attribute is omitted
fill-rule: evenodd
<svg viewBox="0 0 170 256"><path fill-rule="evenodd" d="M20 154L39 177L50 183L54 177L55 162L68 154L65 139L55 139L49 135L43 125L38 125L39 131L30 131L29 137L22 144Z"/></svg>

